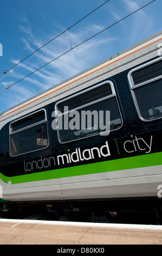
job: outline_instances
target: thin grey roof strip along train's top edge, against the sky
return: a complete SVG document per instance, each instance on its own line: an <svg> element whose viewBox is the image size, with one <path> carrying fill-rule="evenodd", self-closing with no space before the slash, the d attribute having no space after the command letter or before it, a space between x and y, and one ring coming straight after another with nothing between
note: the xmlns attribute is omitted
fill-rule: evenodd
<svg viewBox="0 0 162 256"><path fill-rule="evenodd" d="M50 88L44 90L43 92L38 93L38 94L36 94L36 95L30 97L29 99L27 99L27 100L25 100L25 101L22 101L22 102L18 103L17 105L15 105L15 106L13 106L13 107L11 107L11 108L9 108L9 109L6 109L5 111L3 111L3 112L0 113L0 117L1 117L1 115L3 115L5 112L11 111L12 109L17 108L18 106L23 105L25 102L31 101L31 100L35 99L35 97L38 97L38 96L40 96L40 95L42 95L42 94L44 94L44 93L47 93L47 92L49 92L50 90L59 87L59 86L60 86L61 84L63 84L63 83L67 83L68 81L73 80L74 78L79 77L79 76L81 76L82 74L85 74L85 73L88 72L89 70L95 69L96 67L98 67L98 66L100 66L100 65L102 65L102 64L104 64L104 63L106 63L106 62L108 62L109 60L112 60L112 59L114 59L114 58L116 58L116 57L121 56L122 54L124 54L124 53L126 53L126 52L128 52L128 51L131 51L133 48L138 47L138 46L140 46L140 45L142 45L142 44L145 44L145 42L150 41L150 40L156 38L157 36L159 36L159 35L161 35L161 34L162 34L162 31L160 31L160 32L158 32L158 33L156 33L156 34L150 36L149 38L147 38L147 39L145 39L145 40L142 40L142 41L138 42L137 44L135 44L135 45L133 45L133 46L131 46L131 47L128 47L128 48L127 48L126 50L124 50L124 51L121 51L121 52L119 52L119 53L114 54L113 56L111 56L111 57L109 57L109 58L103 60L102 62L100 62L100 63L98 63L98 64L96 64L96 65L94 65L94 66L91 66L90 68L88 68L88 69L86 69L86 70L83 70L82 72L76 74L75 76L72 76L72 77L68 78L67 80L64 80L64 81L62 81L62 82L60 82L60 83L58 83L58 84L55 84L55 86L50 87Z"/></svg>

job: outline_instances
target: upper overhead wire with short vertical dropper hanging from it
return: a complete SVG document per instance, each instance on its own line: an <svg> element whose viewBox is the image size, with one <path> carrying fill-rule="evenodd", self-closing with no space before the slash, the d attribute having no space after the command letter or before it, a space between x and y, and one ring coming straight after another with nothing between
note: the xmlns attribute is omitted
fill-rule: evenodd
<svg viewBox="0 0 162 256"><path fill-rule="evenodd" d="M48 41L46 44L42 45L40 48L38 48L36 51L34 51L33 53L29 54L27 57L25 57L24 59L22 59L20 62L16 63L14 66L12 66L10 69L7 69L3 72L3 74L1 74L0 76L6 74L9 70L15 68L15 66L17 66L18 64L22 63L25 59L29 58L30 56L32 56L34 53L36 53L37 51L41 50L44 46L48 45L51 41L55 40L56 38L58 38L59 36L61 36L63 33L69 31L70 28L73 28L75 25L77 25L77 23L81 22L82 20L86 19L86 17L88 17L90 14L94 13L94 11L98 10L100 7L102 7L104 4L106 4L107 2L109 2L110 0L107 0L105 3L101 4L99 7L97 7L96 9L94 9L93 11L90 11L89 14L87 14L86 16L84 16L82 19L80 19L79 21L77 21L76 23L74 23L72 26L70 26L69 28L67 28L65 31L61 32L59 35L56 35L53 39L51 39L50 41ZM69 31L69 36L70 36L70 31ZM70 45L72 47L72 41L70 38ZM73 47L72 47L73 48Z"/></svg>

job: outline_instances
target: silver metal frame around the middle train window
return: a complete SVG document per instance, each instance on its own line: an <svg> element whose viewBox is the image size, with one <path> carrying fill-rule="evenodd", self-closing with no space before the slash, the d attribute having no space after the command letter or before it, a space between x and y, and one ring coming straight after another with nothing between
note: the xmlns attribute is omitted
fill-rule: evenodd
<svg viewBox="0 0 162 256"><path fill-rule="evenodd" d="M111 130L111 131L109 131L109 132L112 132L112 131L116 131L116 130L121 129L121 127L122 127L122 125L123 125L123 119L122 119L122 115L121 115L121 110L120 110L120 107L119 107L118 99L117 99L117 97L116 97L116 92L115 92L114 84L113 84L113 82L110 81L110 80L107 80L107 81L105 81L105 82L96 84L95 86L92 86L92 87L88 87L88 88L85 89L85 90L83 89L83 90L82 90L81 92L79 92L79 93L75 93L75 94L73 94L73 95L71 95L71 96L66 97L66 98L63 99L63 100L58 101L58 102L55 104L55 117L61 116L61 115L58 115L58 114L57 114L57 110L58 110L58 109L57 109L57 106L58 106L61 102L70 100L70 99L72 99L72 98L74 98L74 97L76 97L76 96L79 96L79 95L81 95L81 94L84 94L84 93L86 93L86 92L89 92L90 90L93 90L93 89L95 89L95 88L97 88L97 87L100 87L100 86L102 86L103 84L107 84L107 83L111 86L111 90L112 90L112 94L111 94L111 95L105 96L105 97L101 97L101 99L99 99L99 100L89 102L89 103L87 103L87 104L85 104L85 105L81 105L80 107L74 108L74 109L72 109L72 110L70 110L70 111L68 111L68 112L63 112L63 114L61 114L61 115L64 115L64 114L67 114L67 113L70 113L70 112L79 110L79 109L81 109L81 108L83 108L83 107L87 107L87 106L93 105L93 104L95 104L95 103L98 103L98 102L100 102L100 101L109 99L109 98L111 98L111 97L115 97L116 103L117 103L117 107L118 107L118 109L119 109L119 114L120 114L120 119L121 119L121 126L120 126L119 128L114 129L114 130ZM104 133L104 132L102 132L102 133ZM69 143L69 142L74 142L74 141L78 141L78 140L81 140L81 139L86 139L86 138L93 137L93 136L97 136L97 135L99 136L100 133L97 133L97 134L94 134L94 135L89 135L89 136L82 137L82 138L76 138L76 139L73 139L73 140L71 140L71 141L62 142L61 139L60 139L59 129L57 129L57 137L58 137L58 140L59 140L59 142L60 142L61 144L65 144L65 143Z"/></svg>

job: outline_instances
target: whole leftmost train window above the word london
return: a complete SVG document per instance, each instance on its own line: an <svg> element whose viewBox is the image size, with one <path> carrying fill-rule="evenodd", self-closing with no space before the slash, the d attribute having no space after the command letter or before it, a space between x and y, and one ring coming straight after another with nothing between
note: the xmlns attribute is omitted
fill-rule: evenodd
<svg viewBox="0 0 162 256"><path fill-rule="evenodd" d="M41 109L10 124L10 155L17 156L48 146L46 111Z"/></svg>

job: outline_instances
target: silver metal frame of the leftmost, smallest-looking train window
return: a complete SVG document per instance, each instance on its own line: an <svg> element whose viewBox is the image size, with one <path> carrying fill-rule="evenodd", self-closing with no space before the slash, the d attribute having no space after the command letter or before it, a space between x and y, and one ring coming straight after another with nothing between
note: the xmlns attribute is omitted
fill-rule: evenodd
<svg viewBox="0 0 162 256"><path fill-rule="evenodd" d="M12 124L15 124L17 121L23 120L23 119L28 118L28 117L30 117L30 116L33 117L33 115L35 115L36 113L41 112L41 111L44 111L45 119L43 119L43 120L41 120L41 121L39 121L39 122L37 122L37 123L34 123L34 124L32 124L32 125L25 126L24 128L18 129L18 130L16 130L16 131L13 131L13 132L11 131ZM28 152L25 152L25 153L22 153L22 154L17 154L17 155L12 155L12 154L11 154L11 136L12 136L12 135L14 135L14 134L16 134L16 133L18 133L18 132L24 131L24 130L28 130L28 129L34 127L34 126L37 126L37 125L39 125L39 124L43 124L43 123L45 123L45 122L46 122L46 125L47 125L47 137L48 137L48 145L47 145L46 147L41 148L41 149L31 150L31 151L28 151ZM24 117L18 118L18 119L14 120L14 121L12 121L12 122L10 123L10 125L9 125L9 155L10 155L11 157L16 157L16 156L20 156L20 155L24 155L24 154L33 153L33 152L35 152L35 151L39 151L39 150L46 149L46 148L48 148L48 146L49 146L49 132L48 132L48 122L47 122L47 112L46 112L46 109L41 108L41 109L39 109L38 111L35 111L35 112L31 113L31 114L27 114L27 115L25 115Z"/></svg>

